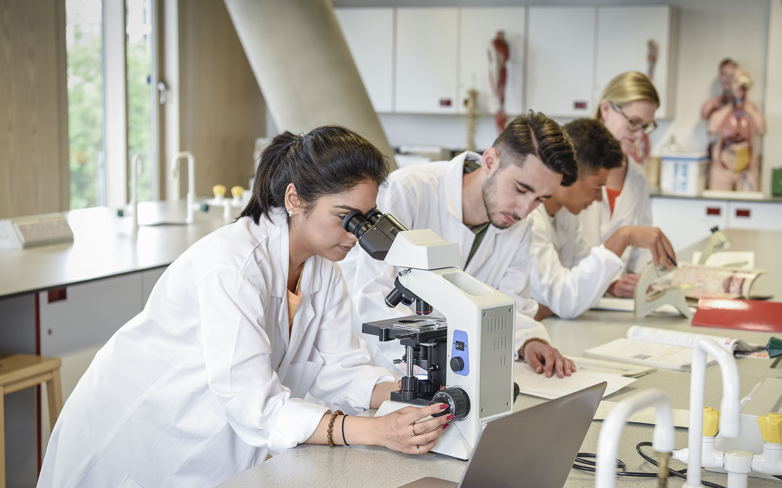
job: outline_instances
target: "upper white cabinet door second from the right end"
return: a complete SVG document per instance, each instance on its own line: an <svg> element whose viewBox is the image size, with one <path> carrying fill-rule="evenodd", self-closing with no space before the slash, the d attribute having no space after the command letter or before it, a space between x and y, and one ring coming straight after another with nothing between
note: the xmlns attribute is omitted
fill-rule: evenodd
<svg viewBox="0 0 782 488"><path fill-rule="evenodd" d="M547 116L593 109L595 7L529 7L526 107Z"/></svg>

